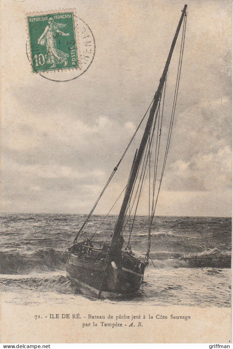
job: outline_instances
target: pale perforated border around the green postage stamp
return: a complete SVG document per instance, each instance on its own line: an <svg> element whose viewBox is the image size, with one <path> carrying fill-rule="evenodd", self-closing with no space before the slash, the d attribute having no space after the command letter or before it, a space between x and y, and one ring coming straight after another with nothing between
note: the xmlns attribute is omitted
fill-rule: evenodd
<svg viewBox="0 0 233 349"><path fill-rule="evenodd" d="M75 30L75 38L76 38L76 45L77 45L78 67L69 67L69 68L66 68L66 69L42 70L40 72L33 72L32 57L31 57L31 47L30 47L30 37L29 37L29 28L28 28L28 16L42 16L42 15L48 15L48 14L51 14L51 13L62 13L62 12L73 12L73 14L74 14L74 30ZM55 9L55 10L53 9L53 10L36 11L36 12L33 11L33 12L25 13L25 24L26 24L26 33L27 33L26 53L27 53L28 60L30 62L30 67L31 67L31 73L32 74L40 74L40 73L52 74L54 72L62 73L63 71L64 72L67 72L67 70L68 71L74 71L74 70L78 70L78 69L82 68L81 61L79 59L81 52L80 52L79 33L78 33L78 25L77 25L76 18L78 18L78 17L77 17L75 8L66 8L65 9L65 8L59 7L58 9ZM30 50L27 49L28 45L30 47ZM30 52L28 52L28 51L30 51Z"/></svg>

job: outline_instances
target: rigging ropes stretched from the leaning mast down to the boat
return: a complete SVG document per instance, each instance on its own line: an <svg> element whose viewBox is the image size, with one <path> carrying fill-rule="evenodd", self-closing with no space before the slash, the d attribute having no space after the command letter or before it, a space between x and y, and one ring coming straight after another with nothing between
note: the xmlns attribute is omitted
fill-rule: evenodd
<svg viewBox="0 0 233 349"><path fill-rule="evenodd" d="M168 131L168 137L167 137L167 143L166 143L166 149L165 149L165 156L164 156L163 166L162 166L162 170L161 170L161 175L160 175L159 187L158 187L158 191L157 191L157 195L156 195L156 200L155 200L155 188L156 188L156 180L157 180L157 173L158 173L158 161L159 161L161 129L162 129L162 122L163 122L164 100L165 100L167 75L165 76L164 91L163 90L161 91L161 94L160 94L160 97L159 97L159 103L157 105L157 109L156 109L156 112L155 112L155 121L153 122L154 125L152 127L152 130L150 131L150 135L149 135L149 138L148 138L147 145L144 148L143 156L142 156L141 161L140 161L140 166L139 166L137 174L136 174L136 178L135 178L135 182L134 182L134 185L133 185L133 189L132 189L131 194L130 194L130 200L129 200L129 203L128 203L128 206L127 206L127 209L126 209L126 215L125 215L125 218L124 218L124 221L123 221L122 232L125 230L126 225L127 225L128 221L130 220L130 217L132 217L132 215L133 215L133 220L132 220L132 222L130 224L131 226L129 227L129 239L128 239L128 244L127 244L127 247L126 247L126 248L129 248L129 250L131 251L131 247L130 247L131 233L132 233L132 230L133 230L133 227L134 227L136 212L137 212L137 208L138 208L138 202L139 202L140 196L142 194L142 191L143 191L143 188L144 188L144 185L145 185L145 180L146 180L146 177L148 175L148 170L149 170L149 217L148 217L148 219L149 219L149 237L148 237L148 248L147 248L147 252L146 252L146 256L145 256L145 261L146 262L148 262L149 253L150 253L151 226L152 226L153 218L155 216L155 210L156 210L158 195L159 195L159 191L160 191L160 187L161 187L161 181L162 181L162 178L163 178L163 175L164 175L165 165L166 165L166 161L167 161L168 148L170 146L170 141L171 141L171 133L172 133L172 127L173 127L173 121L174 121L174 115L175 115L176 102L177 102L177 97L178 97L178 89L179 89L179 82L180 82L180 75L181 75L181 66L182 66L182 59L183 59L183 50L184 50L184 42L185 42L185 31L186 31L186 21L187 21L187 15L185 14L185 20L183 22L183 32L182 32L182 40L181 40L181 49L180 49L180 57L179 57L178 74L177 74L177 78L176 78L176 86L175 86L172 114L171 114L171 120L170 120L170 127L169 127L169 131ZM162 106L161 118L160 118L160 102L161 102L162 95L163 95L163 106ZM148 111L149 111L153 101L154 101L154 98L152 99L148 109L146 110L146 112L145 112L145 114L144 114L140 124L138 125L138 127L137 127L134 135L132 136L130 142L128 143L128 146L126 147L126 149L125 149L123 155L121 156L118 164L115 166L115 168L113 169L110 177L108 178L107 183L105 184L105 186L104 186L102 192L100 193L97 201L93 205L93 207L92 207L90 213L88 214L87 218L85 219L81 229L78 231L78 233L77 233L77 235L75 237L75 242L77 242L77 238L78 237L79 238L81 237L85 227L87 226L87 224L88 224L88 222L89 222L89 220L90 220L90 218L91 218L91 216L93 214L93 211L95 210L99 200L101 199L102 195L104 194L108 184L112 180L112 178L113 178L115 172L117 171L118 166L120 165L122 159L125 157L125 155L127 153L127 150L130 147L130 144L133 142L133 140L135 138L135 135L136 135L138 129L140 128L140 126L141 126L141 124L142 124L146 114L148 113ZM157 122L157 120L158 120L158 122ZM154 140L155 140L156 122L157 122L157 132L156 132L157 135L156 135L155 163L154 163L154 170L153 170L153 184L152 184L152 198L151 198L151 154L152 154L153 143L154 143ZM149 167L148 167L148 160L149 160ZM140 168L141 168L141 170L139 170ZM138 174L140 172L141 172L141 174L140 174L139 179L138 179ZM137 182L137 185L136 185L136 182ZM126 185L126 187L127 187L127 185ZM136 187L136 193L135 193L135 187ZM100 226L105 221L106 217L108 216L108 214L110 213L110 211L114 207L115 203L118 201L118 199L120 198L120 196L124 192L125 188L123 189L123 191L121 192L121 194L119 195L117 200L114 202L113 206L108 211L107 215L104 217L103 221L100 223L100 225L97 228L97 230L93 233L91 239L95 236L96 232L98 231ZM136 207L135 207L135 202L136 202Z"/></svg>

